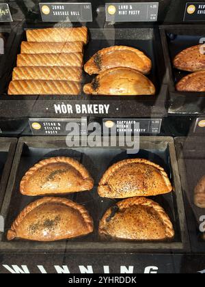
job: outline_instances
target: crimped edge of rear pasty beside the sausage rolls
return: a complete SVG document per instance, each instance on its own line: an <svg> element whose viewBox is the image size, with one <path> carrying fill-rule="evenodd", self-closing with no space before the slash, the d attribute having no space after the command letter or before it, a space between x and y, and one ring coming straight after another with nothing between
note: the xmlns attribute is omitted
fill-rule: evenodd
<svg viewBox="0 0 205 287"><path fill-rule="evenodd" d="M150 70L152 69L152 60L151 60L148 56L146 56L145 53L143 53L142 51L140 51L139 49L135 49L135 48L130 47L130 46L111 46L111 47L104 48L104 49L98 51L97 53L95 53L95 54L87 61L87 63L85 63L85 65L84 65L84 70L85 70L85 72L87 72L87 74L93 74L93 72L92 72L93 69L92 69L92 68L91 68L91 69L90 69L90 68L87 68L87 66L89 66L90 63L92 63L92 61L94 60L94 57L96 57L96 55L101 55L101 56L103 56L103 55L105 55L105 54L107 54L107 53L111 53L111 52L113 52L113 51L120 51L120 50L122 50L122 51L128 50L128 51L131 51L131 52L133 52L133 53L137 53L137 55L138 55L139 57L141 57L141 59L143 59L143 61L148 61L148 62L149 62L149 63L148 63L149 70L148 70L147 72L145 72L145 74L148 74L148 73L150 72ZM91 70L91 71L90 71L90 70ZM99 72L100 72L100 70L99 70Z"/></svg>

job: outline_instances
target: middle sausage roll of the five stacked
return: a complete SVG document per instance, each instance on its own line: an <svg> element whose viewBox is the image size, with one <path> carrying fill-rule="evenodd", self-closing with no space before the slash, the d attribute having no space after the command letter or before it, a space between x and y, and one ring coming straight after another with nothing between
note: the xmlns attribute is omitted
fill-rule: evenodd
<svg viewBox="0 0 205 287"><path fill-rule="evenodd" d="M32 66L67 66L82 67L82 53L60 54L20 54L17 57L17 67Z"/></svg>

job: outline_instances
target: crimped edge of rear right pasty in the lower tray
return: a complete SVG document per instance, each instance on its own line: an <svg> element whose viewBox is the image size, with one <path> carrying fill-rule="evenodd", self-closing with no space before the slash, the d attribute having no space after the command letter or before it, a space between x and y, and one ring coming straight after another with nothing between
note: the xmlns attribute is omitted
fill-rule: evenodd
<svg viewBox="0 0 205 287"><path fill-rule="evenodd" d="M101 178L101 180L100 180L100 182L98 184L98 194L101 197L104 197L103 192L102 192L102 187L109 187L109 185L108 185L109 178L111 176L113 176L113 174L118 169L120 169L120 167L123 167L124 165L128 165L130 163L143 163L143 164L155 167L156 169L159 170L159 172L163 176L163 179L165 181L167 189L169 189L169 192L171 192L173 190L172 184L171 184L171 182L170 182L165 170L160 165L156 165L156 163L152 163L151 161L148 161L147 159L124 159L123 161L119 161L118 163L115 163L115 164L111 165L111 167L109 167L109 169L107 169L105 174L102 176L102 178ZM111 188L110 187L109 187L109 189L110 189L110 192L111 192Z"/></svg>

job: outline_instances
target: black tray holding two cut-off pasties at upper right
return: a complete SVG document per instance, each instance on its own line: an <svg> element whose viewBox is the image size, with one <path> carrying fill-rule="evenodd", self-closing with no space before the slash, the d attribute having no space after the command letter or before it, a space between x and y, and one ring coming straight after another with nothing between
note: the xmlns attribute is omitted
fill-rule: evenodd
<svg viewBox="0 0 205 287"><path fill-rule="evenodd" d="M205 36L204 25L163 25L161 42L169 79L169 110L172 114L201 114L205 112L205 94L178 92L176 83L190 74L174 68L174 57L182 50L200 44ZM202 42L201 44L203 44Z"/></svg>

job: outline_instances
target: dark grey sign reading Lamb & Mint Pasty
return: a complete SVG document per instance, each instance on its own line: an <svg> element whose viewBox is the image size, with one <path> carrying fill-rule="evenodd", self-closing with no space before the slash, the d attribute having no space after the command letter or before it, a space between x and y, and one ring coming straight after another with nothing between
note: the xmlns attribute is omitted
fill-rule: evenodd
<svg viewBox="0 0 205 287"><path fill-rule="evenodd" d="M156 22L159 2L106 3L107 22Z"/></svg>

